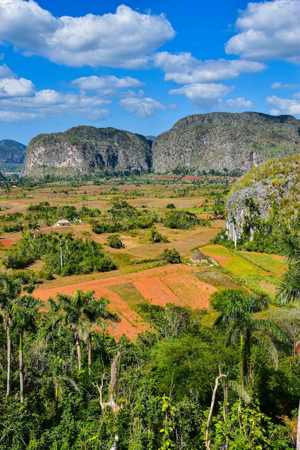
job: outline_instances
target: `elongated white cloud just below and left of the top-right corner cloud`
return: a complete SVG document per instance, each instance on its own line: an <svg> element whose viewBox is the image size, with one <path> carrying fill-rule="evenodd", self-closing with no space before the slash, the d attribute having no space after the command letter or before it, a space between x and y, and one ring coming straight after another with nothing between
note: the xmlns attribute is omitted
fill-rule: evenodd
<svg viewBox="0 0 300 450"><path fill-rule="evenodd" d="M241 73L262 72L266 68L263 63L242 59L201 61L188 52L159 52L154 55L154 65L165 72L166 81L177 84L223 81L237 78Z"/></svg>

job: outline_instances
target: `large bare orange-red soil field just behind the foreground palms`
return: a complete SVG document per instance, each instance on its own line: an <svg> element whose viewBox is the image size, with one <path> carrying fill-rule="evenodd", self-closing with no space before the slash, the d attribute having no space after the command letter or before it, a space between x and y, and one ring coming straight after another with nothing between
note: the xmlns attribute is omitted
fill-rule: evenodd
<svg viewBox="0 0 300 450"><path fill-rule="evenodd" d="M55 297L58 292L73 295L76 289L83 291L92 289L95 291L96 297L107 295L111 301L111 310L121 317L121 322L115 324L116 328L110 329L110 333L116 338L120 338L125 333L126 336L134 339L138 333L148 329L149 325L130 308L121 296L113 293L109 286L132 283L143 297L152 298L155 305L165 306L166 303L174 303L191 308L208 307L210 294L217 289L201 282L193 275L194 272L199 271L196 267L174 264L142 270L129 275L112 276L60 287L51 287L51 284L41 285L36 289L35 295L43 301L46 301L48 297ZM47 302L45 303L47 306Z"/></svg>

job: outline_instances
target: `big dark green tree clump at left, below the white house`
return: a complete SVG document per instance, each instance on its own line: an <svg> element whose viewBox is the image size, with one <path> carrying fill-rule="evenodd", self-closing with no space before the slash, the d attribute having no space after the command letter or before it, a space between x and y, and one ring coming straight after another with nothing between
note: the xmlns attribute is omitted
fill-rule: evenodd
<svg viewBox="0 0 300 450"><path fill-rule="evenodd" d="M37 228L37 226L36 226ZM45 261L45 270L61 276L107 272L116 269L115 263L94 240L73 238L72 233L50 235L23 233L17 243L2 258L4 266L21 269L36 260Z"/></svg>

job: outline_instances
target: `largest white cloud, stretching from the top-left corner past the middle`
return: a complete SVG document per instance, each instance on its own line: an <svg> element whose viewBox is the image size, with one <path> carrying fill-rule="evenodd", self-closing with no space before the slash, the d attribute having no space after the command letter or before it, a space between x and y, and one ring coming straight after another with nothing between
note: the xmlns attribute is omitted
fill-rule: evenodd
<svg viewBox="0 0 300 450"><path fill-rule="evenodd" d="M121 4L116 13L56 18L29 0L0 0L0 39L58 64L138 68L175 36L164 14Z"/></svg>

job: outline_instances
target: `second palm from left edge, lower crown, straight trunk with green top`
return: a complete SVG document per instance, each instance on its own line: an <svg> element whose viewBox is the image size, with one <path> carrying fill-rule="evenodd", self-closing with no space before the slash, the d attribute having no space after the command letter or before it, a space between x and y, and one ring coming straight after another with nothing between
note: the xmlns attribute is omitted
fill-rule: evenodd
<svg viewBox="0 0 300 450"><path fill-rule="evenodd" d="M20 363L20 395L21 403L24 403L24 358L23 358L23 334L28 329L35 330L36 315L40 309L41 302L39 298L26 294L13 303L12 306L12 324L9 331L12 338L19 335L19 363Z"/></svg>

